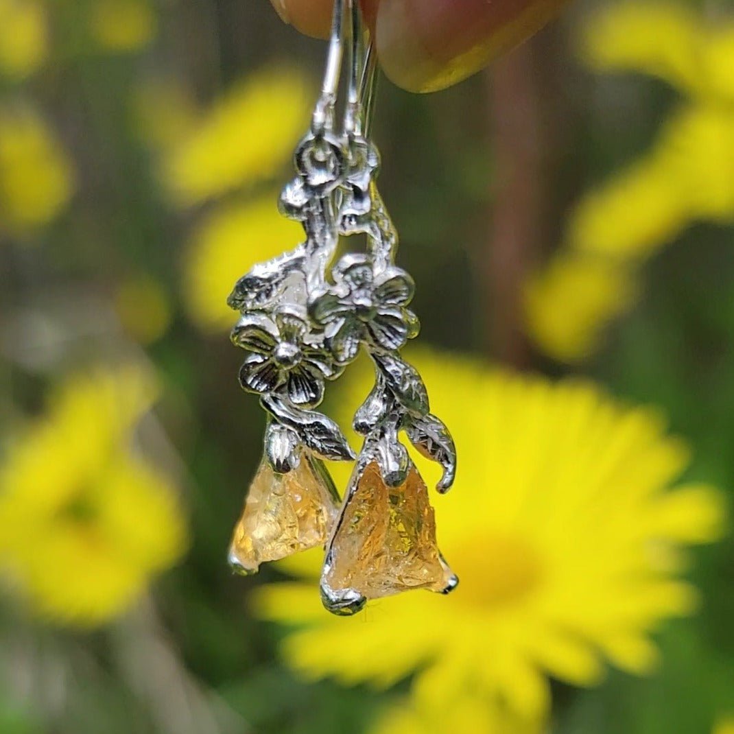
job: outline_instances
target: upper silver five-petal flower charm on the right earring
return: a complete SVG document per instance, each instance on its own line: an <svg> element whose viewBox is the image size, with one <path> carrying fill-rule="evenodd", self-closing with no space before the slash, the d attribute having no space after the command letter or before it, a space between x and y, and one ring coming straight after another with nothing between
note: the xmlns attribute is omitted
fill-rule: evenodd
<svg viewBox="0 0 734 734"><path fill-rule="evenodd" d="M333 269L334 286L311 305L340 364L352 361L366 341L392 351L418 335L418 319L407 304L413 279L395 266L375 274L368 255L344 255Z"/></svg>

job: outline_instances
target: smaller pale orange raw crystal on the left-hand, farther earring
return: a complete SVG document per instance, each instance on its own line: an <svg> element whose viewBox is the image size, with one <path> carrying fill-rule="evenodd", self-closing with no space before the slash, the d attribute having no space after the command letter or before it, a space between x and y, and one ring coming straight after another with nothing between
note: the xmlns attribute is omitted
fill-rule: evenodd
<svg viewBox="0 0 734 734"><path fill-rule="evenodd" d="M327 470L308 451L286 474L263 459L234 529L230 566L256 573L261 563L324 545L338 515L338 494Z"/></svg>

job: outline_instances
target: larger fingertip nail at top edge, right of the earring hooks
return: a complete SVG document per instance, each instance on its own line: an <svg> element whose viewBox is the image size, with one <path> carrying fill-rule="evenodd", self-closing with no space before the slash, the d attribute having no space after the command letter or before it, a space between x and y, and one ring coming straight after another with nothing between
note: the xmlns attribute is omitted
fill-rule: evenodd
<svg viewBox="0 0 734 734"><path fill-rule="evenodd" d="M411 92L449 87L533 34L563 1L382 0L382 68Z"/></svg>

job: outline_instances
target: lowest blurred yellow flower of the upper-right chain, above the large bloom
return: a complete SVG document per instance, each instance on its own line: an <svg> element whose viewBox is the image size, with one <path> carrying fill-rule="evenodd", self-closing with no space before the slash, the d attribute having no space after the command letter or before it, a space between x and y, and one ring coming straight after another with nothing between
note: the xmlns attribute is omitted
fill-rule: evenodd
<svg viewBox="0 0 734 734"><path fill-rule="evenodd" d="M577 363L596 351L600 326L635 298L627 270L604 258L562 253L523 286L526 330L545 354Z"/></svg>

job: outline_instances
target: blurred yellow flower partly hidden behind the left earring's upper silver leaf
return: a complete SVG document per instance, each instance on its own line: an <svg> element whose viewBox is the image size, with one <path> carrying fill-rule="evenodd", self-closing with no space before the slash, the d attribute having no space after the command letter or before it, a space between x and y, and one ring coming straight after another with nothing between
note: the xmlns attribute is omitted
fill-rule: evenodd
<svg viewBox="0 0 734 734"><path fill-rule="evenodd" d="M184 264L183 299L189 318L201 329L226 330L234 312L227 297L252 265L280 255L303 239L296 222L281 217L277 194L214 211L192 236Z"/></svg>

